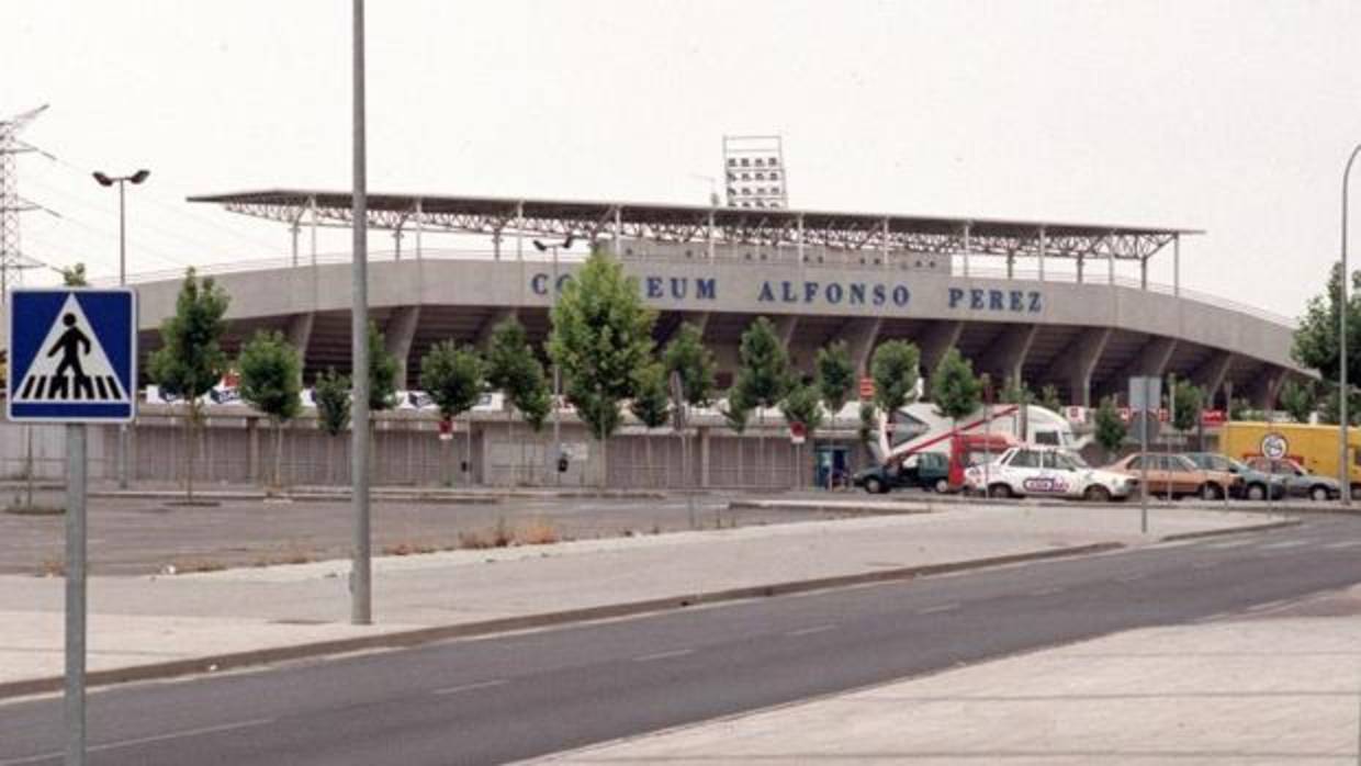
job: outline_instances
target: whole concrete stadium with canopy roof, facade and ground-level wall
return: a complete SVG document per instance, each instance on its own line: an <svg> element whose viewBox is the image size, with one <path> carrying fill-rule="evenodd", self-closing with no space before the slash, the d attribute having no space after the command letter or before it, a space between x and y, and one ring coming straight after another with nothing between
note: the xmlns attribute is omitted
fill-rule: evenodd
<svg viewBox="0 0 1361 766"><path fill-rule="evenodd" d="M191 201L275 220L291 234L291 253L282 260L203 271L231 295L229 354L256 331L278 329L302 350L306 381L328 367L348 369L350 259L320 256L316 231L351 226L351 196L267 189ZM1165 374L1195 381L1217 405L1232 396L1268 407L1288 377L1305 374L1290 361L1289 318L1181 287L1181 239L1200 234L1192 230L381 193L369 195L367 210L370 230L393 237L391 250L372 253L370 316L401 365L400 380L411 388L431 344L446 339L479 344L502 318L517 317L531 340L542 343L557 287L572 278L592 245L615 253L637 278L642 298L659 313L659 344L682 321L702 328L720 363L720 386L731 381L739 337L758 316L776 322L795 365L806 373L826 343L847 342L864 370L878 343L906 339L921 350L927 373L947 350L958 348L976 371L999 381L1021 380L1036 390L1057 386L1075 407L1121 395L1131 376ZM305 238L310 249L302 246ZM438 238L463 246L430 246ZM1173 284L1149 282L1154 257L1173 260ZM1128 276L1130 271L1136 276ZM159 343L157 328L174 310L181 279L182 273L163 273L135 280L143 356ZM139 430L151 429L158 412L144 408L146 427L139 423ZM214 415L219 426L234 422L227 414ZM491 426L479 429L479 418L505 420L505 415L475 412L460 431L470 480L543 480L531 468L543 464L542 452L514 457L512 445L519 444L523 456L523 438ZM246 416L240 423L246 430L257 427ZM434 441L429 438L433 427L433 422L419 426L426 430L422 444ZM563 441L587 441L573 424L565 427ZM732 438L713 430L715 439ZM849 435L853 426L844 431L842 437ZM834 435L836 430L829 431L829 438ZM618 441L621 460L614 460L611 448L610 480L637 484L633 475L638 471L630 461L637 450L626 438ZM539 437L536 444L540 450L546 446ZM659 444L657 449L674 449L674 439ZM433 449L421 446L423 457L411 460L437 463L438 457L426 454ZM746 448L732 449L742 456ZM581 444L581 450L572 482L589 472L589 448ZM237 452L253 457L223 468L227 478L256 475L260 448ZM781 465L765 467L776 476L770 483L796 482L798 460L791 453ZM313 475L321 463L298 459L295 469L325 480ZM744 457L723 457L719 448L705 446L693 476L705 486L742 484L746 471L734 467L743 463L750 465ZM155 467L137 461L135 471L154 475ZM429 471L407 465L395 480L421 482ZM680 479L674 467L664 471L664 478L649 482ZM732 473L731 480L717 479L721 471Z"/></svg>

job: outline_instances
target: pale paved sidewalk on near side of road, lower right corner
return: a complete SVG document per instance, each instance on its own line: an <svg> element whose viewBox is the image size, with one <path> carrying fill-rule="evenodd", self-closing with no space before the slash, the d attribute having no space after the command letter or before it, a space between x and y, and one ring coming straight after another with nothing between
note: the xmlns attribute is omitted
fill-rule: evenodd
<svg viewBox="0 0 1361 766"><path fill-rule="evenodd" d="M539 763L1356 766L1358 612L1135 630Z"/></svg>

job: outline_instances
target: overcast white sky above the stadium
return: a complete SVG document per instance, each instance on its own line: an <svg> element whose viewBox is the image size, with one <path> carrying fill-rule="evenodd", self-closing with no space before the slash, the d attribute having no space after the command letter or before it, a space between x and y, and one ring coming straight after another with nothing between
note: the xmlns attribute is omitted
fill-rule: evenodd
<svg viewBox="0 0 1361 766"><path fill-rule="evenodd" d="M367 14L373 190L705 204L724 133L781 133L791 207L1204 229L1183 283L1290 316L1338 257L1361 141L1357 3ZM280 224L182 200L348 188L348 56L347 0L4 0L0 114L50 103L24 137L61 161L20 161L64 216L26 215L26 250L116 273L116 195L88 171L148 167L129 271L284 254Z"/></svg>

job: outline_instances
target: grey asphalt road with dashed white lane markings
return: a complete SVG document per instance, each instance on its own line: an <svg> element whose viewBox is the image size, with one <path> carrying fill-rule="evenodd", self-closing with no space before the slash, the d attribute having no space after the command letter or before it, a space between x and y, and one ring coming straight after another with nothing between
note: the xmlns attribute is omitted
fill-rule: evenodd
<svg viewBox="0 0 1361 766"><path fill-rule="evenodd" d="M754 600L90 698L94 765L502 763L1361 581L1361 521ZM61 701L0 706L59 763Z"/></svg>

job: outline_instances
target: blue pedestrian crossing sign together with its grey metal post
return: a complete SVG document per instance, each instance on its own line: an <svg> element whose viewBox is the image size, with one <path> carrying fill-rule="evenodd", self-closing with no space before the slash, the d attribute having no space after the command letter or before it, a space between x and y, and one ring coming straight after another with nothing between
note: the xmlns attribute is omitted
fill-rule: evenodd
<svg viewBox="0 0 1361 766"><path fill-rule="evenodd" d="M65 765L86 762L87 423L136 416L137 302L132 290L14 290L7 415L67 424Z"/></svg>

